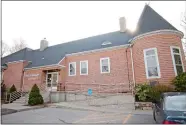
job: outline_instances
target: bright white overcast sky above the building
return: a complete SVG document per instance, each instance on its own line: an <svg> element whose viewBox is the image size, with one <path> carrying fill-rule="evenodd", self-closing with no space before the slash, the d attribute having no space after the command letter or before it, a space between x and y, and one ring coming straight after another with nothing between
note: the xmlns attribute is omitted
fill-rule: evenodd
<svg viewBox="0 0 186 125"><path fill-rule="evenodd" d="M2 1L2 40L12 45L24 39L38 49L46 37L49 45L119 30L119 17L134 30L148 1ZM177 29L185 1L151 1L150 6Z"/></svg>

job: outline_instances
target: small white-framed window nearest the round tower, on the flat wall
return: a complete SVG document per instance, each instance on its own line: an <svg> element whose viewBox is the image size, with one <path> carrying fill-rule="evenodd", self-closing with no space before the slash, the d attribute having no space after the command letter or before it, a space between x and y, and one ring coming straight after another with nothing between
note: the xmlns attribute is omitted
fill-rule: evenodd
<svg viewBox="0 0 186 125"><path fill-rule="evenodd" d="M110 58L100 58L100 71L101 73L110 73Z"/></svg>

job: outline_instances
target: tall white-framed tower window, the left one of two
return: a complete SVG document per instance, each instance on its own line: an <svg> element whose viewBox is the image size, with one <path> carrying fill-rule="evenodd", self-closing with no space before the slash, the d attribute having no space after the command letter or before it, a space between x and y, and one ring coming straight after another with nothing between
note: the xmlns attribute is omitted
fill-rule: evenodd
<svg viewBox="0 0 186 125"><path fill-rule="evenodd" d="M143 52L147 79L160 78L161 76L157 48L145 49Z"/></svg>

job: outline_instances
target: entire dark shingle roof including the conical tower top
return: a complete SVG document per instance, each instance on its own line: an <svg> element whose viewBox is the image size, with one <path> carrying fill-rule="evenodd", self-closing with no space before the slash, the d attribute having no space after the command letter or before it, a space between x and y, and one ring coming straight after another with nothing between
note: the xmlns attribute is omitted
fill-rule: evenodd
<svg viewBox="0 0 186 125"><path fill-rule="evenodd" d="M138 29L133 34L129 31L126 31L125 33L116 31L50 46L44 51L40 51L39 49L30 50L29 48L25 48L14 54L4 57L2 59L2 64L16 60L32 61L32 63L26 68L57 64L66 54L125 45L128 44L130 39L137 35L160 29L177 30L158 13L156 13L151 7L145 5L138 21ZM102 46L101 44L105 41L110 41L112 44Z"/></svg>

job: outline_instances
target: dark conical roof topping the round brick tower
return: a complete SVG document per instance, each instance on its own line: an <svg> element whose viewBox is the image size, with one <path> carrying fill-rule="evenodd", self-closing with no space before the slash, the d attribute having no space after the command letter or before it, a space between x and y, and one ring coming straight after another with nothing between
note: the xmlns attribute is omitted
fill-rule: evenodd
<svg viewBox="0 0 186 125"><path fill-rule="evenodd" d="M177 30L167 20L154 11L149 5L145 5L137 24L135 35L140 35L156 30Z"/></svg>

